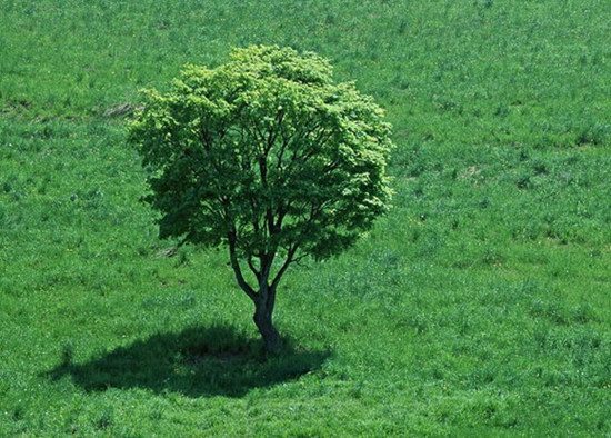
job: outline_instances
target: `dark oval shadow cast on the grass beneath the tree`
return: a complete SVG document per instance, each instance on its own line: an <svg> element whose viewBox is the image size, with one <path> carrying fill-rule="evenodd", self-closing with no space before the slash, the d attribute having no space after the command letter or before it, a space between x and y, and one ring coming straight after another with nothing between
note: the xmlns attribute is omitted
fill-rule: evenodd
<svg viewBox="0 0 611 438"><path fill-rule="evenodd" d="M144 388L189 397L241 397L319 369L329 351L291 347L266 357L261 344L229 327L194 327L154 335L119 347L84 364L73 364L69 349L62 364L47 372L53 380L70 376L87 391Z"/></svg>

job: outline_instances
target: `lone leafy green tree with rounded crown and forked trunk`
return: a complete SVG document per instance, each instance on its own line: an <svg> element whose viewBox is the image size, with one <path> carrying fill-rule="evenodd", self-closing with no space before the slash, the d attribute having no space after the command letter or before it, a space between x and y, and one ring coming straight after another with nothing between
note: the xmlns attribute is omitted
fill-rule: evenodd
<svg viewBox="0 0 611 438"><path fill-rule="evenodd" d="M227 246L268 351L287 268L350 247L389 208L390 126L329 62L289 48L234 49L146 92L129 138L149 170L160 238ZM250 271L250 273L249 273Z"/></svg>

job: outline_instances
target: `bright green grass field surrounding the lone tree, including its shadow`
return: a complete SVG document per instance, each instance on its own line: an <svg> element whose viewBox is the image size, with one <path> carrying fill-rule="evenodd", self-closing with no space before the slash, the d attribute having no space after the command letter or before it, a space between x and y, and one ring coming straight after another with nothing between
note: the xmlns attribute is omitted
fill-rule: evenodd
<svg viewBox="0 0 611 438"><path fill-rule="evenodd" d="M611 436L597 0L0 3L0 436ZM394 208L279 290L157 239L121 106L314 50L394 126Z"/></svg>

